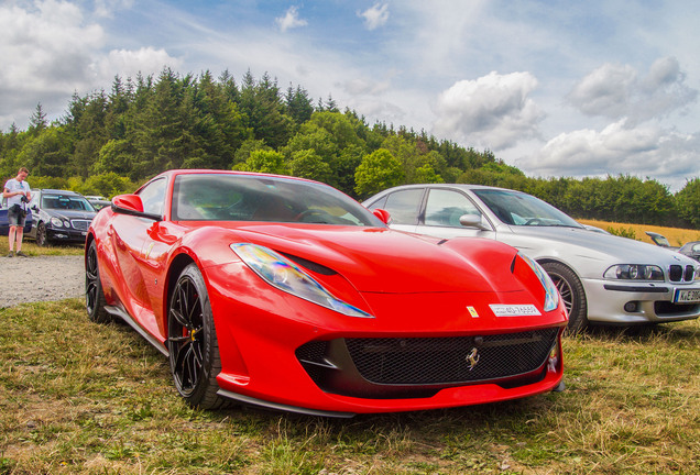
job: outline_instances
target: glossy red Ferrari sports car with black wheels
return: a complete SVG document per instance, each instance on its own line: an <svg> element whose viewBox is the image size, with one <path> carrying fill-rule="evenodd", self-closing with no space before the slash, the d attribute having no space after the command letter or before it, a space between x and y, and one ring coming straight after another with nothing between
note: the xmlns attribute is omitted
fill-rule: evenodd
<svg viewBox="0 0 700 475"><path fill-rule="evenodd" d="M316 181L169 170L92 221L87 312L130 323L205 409L349 417L562 387L567 316L535 262L387 219Z"/></svg>

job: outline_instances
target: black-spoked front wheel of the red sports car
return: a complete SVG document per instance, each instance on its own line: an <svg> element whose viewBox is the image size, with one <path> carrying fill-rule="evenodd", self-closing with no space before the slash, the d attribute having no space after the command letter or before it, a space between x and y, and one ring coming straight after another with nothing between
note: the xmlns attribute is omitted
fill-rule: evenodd
<svg viewBox="0 0 700 475"><path fill-rule="evenodd" d="M217 391L221 372L219 343L209 294L196 264L179 274L167 310L167 350L177 393L198 409L228 405Z"/></svg>

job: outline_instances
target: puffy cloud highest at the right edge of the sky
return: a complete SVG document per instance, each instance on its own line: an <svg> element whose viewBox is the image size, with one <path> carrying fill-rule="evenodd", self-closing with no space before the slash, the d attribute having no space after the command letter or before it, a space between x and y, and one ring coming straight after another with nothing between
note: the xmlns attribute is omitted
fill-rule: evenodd
<svg viewBox="0 0 700 475"><path fill-rule="evenodd" d="M646 76L630 65L606 63L581 79L567 99L587 115L643 122L686 108L697 97L678 60L663 57Z"/></svg>

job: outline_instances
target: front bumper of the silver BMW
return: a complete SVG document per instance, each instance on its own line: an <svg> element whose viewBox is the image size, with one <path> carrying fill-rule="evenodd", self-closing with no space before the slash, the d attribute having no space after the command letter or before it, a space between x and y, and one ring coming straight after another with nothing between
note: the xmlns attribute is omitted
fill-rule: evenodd
<svg viewBox="0 0 700 475"><path fill-rule="evenodd" d="M700 302L675 303L677 289L698 289L700 283L624 283L583 279L590 322L611 324L661 323L700 317Z"/></svg>

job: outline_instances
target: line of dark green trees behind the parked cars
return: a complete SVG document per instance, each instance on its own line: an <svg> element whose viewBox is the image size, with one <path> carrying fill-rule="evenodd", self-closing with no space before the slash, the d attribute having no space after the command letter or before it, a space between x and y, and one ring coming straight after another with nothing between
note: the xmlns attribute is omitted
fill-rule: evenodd
<svg viewBox="0 0 700 475"><path fill-rule="evenodd" d="M0 176L28 167L34 188L111 197L169 168L217 168L299 176L363 199L412 183L471 183L535 195L579 219L700 229L700 178L677 194L655 179L533 178L491 151L425 131L370 125L300 86L280 88L248 71L240 84L164 68L157 77L116 77L111 90L73 96L46 121L41 103L26 130L0 133Z"/></svg>

